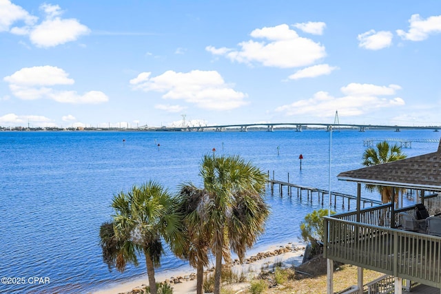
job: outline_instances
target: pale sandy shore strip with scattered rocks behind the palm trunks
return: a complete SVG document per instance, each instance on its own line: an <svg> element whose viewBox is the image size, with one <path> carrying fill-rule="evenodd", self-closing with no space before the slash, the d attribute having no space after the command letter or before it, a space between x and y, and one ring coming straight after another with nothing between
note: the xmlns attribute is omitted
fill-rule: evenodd
<svg viewBox="0 0 441 294"><path fill-rule="evenodd" d="M244 264L234 262L232 267L236 273L245 272L247 275L256 275L260 273L260 269L265 266L270 267L275 262L283 262L284 266L299 266L302 263L303 254L305 253L305 244L302 242L279 244L268 246L265 250L258 251L254 255L247 255ZM210 266L209 269L212 267ZM209 271L209 270L208 270ZM172 284L174 294L194 294L196 293L196 280L190 280L192 275L196 274L196 270L191 266L176 271L163 271L155 275L156 282L170 282L179 280ZM180 279L178 279L181 277ZM147 273L136 280L120 282L107 288L95 291L94 294L119 294L132 293L132 291L144 288L148 285ZM240 285L237 285L240 287ZM240 290L240 289L238 289Z"/></svg>

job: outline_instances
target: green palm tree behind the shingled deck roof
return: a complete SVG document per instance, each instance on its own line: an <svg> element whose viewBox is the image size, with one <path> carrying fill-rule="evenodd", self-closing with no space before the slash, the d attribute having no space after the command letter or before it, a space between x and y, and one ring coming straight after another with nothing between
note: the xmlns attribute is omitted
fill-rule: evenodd
<svg viewBox="0 0 441 294"><path fill-rule="evenodd" d="M365 150L365 153L363 153L363 165L365 167L380 165L382 163L396 161L407 157L406 154L402 153L400 146L396 144L390 146L387 141L377 143L376 147L376 149L369 147ZM393 191L392 187L378 185L366 185L366 189L369 191L378 191L383 203L392 201L398 202L398 192L404 191L403 189L395 189L395 191ZM395 194L395 198L392 200L393 194Z"/></svg>

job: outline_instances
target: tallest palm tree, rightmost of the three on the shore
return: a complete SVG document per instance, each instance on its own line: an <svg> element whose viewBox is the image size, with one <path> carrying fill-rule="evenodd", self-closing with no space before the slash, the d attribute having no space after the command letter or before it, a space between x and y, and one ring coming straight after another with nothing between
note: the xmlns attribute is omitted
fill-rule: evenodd
<svg viewBox="0 0 441 294"><path fill-rule="evenodd" d="M240 262L245 251L265 229L269 207L263 200L266 174L239 156L206 155L201 164L207 198L200 215L212 232L210 247L216 258L214 293L220 293L222 260L231 260L231 251Z"/></svg>

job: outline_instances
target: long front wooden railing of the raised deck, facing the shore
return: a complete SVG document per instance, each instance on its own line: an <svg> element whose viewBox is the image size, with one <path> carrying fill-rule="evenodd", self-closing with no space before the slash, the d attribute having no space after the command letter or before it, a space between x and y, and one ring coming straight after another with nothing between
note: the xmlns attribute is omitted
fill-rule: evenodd
<svg viewBox="0 0 441 294"><path fill-rule="evenodd" d="M325 217L325 258L441 288L441 238Z"/></svg>

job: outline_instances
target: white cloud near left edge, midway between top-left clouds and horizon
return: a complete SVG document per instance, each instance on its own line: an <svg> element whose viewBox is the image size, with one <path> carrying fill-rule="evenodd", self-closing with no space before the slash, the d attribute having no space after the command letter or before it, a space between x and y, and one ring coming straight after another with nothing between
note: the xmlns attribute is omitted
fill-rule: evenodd
<svg viewBox="0 0 441 294"><path fill-rule="evenodd" d="M50 65L23 67L10 76L3 78L9 83L9 88L17 98L23 100L35 100L48 98L60 103L88 103L96 104L109 100L99 91L90 91L85 94L77 94L75 91L54 89L57 85L73 85L74 80L68 78L69 74L59 67Z"/></svg>

